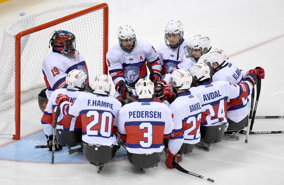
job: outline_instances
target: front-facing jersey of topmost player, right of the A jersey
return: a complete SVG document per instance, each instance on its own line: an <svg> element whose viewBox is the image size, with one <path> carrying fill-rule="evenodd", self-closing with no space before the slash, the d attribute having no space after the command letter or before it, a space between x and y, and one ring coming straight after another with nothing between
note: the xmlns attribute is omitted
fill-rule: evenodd
<svg viewBox="0 0 284 185"><path fill-rule="evenodd" d="M181 39L181 44L176 49L170 49L165 42L161 42L158 46L158 55L162 60L162 74L169 73L172 69L181 62L183 55L185 54L184 39Z"/></svg>

